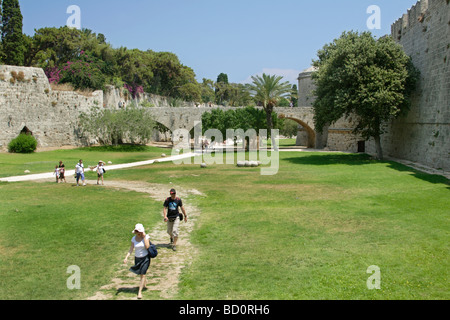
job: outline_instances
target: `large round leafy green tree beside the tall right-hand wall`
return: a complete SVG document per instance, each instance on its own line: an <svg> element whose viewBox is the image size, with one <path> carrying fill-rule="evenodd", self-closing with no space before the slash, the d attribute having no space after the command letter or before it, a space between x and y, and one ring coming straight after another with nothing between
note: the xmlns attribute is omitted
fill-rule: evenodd
<svg viewBox="0 0 450 320"><path fill-rule="evenodd" d="M318 52L314 121L321 132L342 116L356 118L355 134L374 138L383 158L380 136L385 124L410 105L418 71L391 37L375 39L370 32L344 32Z"/></svg>

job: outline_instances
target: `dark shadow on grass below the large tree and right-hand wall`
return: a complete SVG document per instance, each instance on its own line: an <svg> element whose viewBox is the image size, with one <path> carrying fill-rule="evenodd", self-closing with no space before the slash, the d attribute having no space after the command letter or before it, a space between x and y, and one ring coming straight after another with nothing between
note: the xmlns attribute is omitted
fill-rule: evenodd
<svg viewBox="0 0 450 320"><path fill-rule="evenodd" d="M360 166L375 163L386 163L388 164L388 167L391 169L401 172L410 172L410 174L416 178L422 179L430 183L442 183L447 185L448 186L447 188L450 189L450 181L444 176L425 173L395 161L387 161L387 160L379 161L374 159L372 156L364 153L311 154L291 158L284 158L283 160L288 161L292 164L316 165L316 166L320 165Z"/></svg>

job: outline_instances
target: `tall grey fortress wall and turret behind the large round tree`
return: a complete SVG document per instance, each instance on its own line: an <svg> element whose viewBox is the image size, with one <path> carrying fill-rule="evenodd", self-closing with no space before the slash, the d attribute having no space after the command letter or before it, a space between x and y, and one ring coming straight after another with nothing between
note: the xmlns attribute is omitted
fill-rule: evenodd
<svg viewBox="0 0 450 320"><path fill-rule="evenodd" d="M450 169L450 1L421 0L392 25L391 36L400 43L420 80L406 116L388 124L382 136L385 156ZM311 107L311 69L299 80L299 106ZM300 102L302 104L300 104ZM352 118L333 123L326 135L326 149L375 155L373 140L352 134Z"/></svg>

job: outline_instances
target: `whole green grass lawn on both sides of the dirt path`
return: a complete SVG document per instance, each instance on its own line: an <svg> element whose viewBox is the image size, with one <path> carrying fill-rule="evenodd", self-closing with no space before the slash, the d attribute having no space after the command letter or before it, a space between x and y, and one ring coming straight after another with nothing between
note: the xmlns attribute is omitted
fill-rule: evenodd
<svg viewBox="0 0 450 320"><path fill-rule="evenodd" d="M189 198L201 210L199 254L179 299L450 298L450 184L441 176L365 155L281 152L274 176L157 163L107 179L205 195ZM0 194L0 299L84 299L113 277L134 224L160 219L161 204L134 192L1 183ZM81 290L66 287L70 265L82 270ZM372 265L380 290L366 286Z"/></svg>

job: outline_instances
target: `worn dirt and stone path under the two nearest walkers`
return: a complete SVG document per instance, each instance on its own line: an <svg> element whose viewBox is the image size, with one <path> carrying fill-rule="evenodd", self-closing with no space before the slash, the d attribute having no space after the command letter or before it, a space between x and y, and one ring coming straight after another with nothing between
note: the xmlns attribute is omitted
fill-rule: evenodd
<svg viewBox="0 0 450 320"><path fill-rule="evenodd" d="M96 181L87 181L88 184L96 184ZM121 190L130 190L141 193L147 193L157 201L164 201L168 197L168 190L172 186L159 184L149 184L144 182L132 181L107 181L105 187L117 188ZM188 215L187 223L180 223L180 238L177 244L177 251L173 252L169 247L169 236L166 232L166 223L163 221L161 210L161 222L155 226L146 226L146 232L150 234L152 243L158 247L158 256L151 261L147 272L147 290L143 291L143 299L146 296L155 295L160 299L171 299L178 292L178 282L181 271L192 262L196 256L196 248L191 244L190 234L195 222L200 215L200 210L189 203L189 197L192 195L203 195L195 189L183 189L176 187L178 194L184 200L183 204ZM130 233L130 239L132 234ZM125 257L128 248L124 250ZM88 300L135 300L139 286L139 277L131 273L128 269L134 263L134 255L128 259L128 264L124 265L122 261L116 264L116 274L110 283L99 288L98 292L89 297ZM128 293L128 294L123 294ZM133 293L130 295L129 293Z"/></svg>

